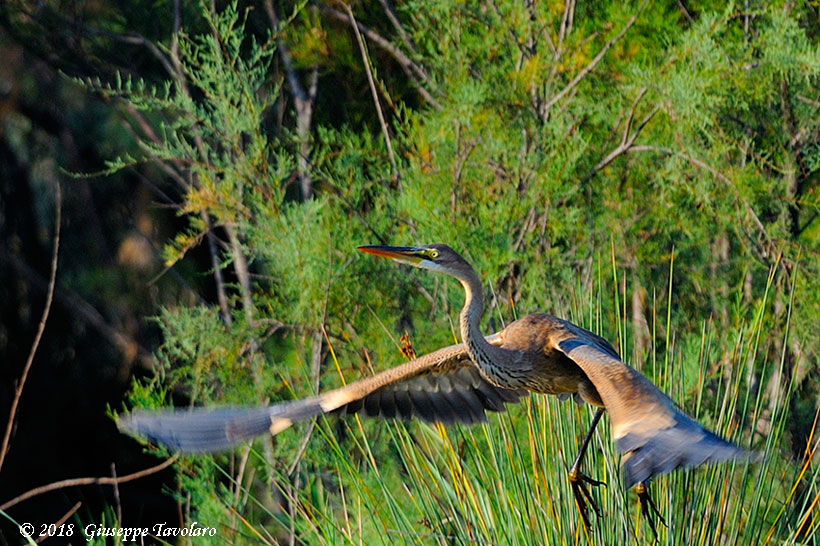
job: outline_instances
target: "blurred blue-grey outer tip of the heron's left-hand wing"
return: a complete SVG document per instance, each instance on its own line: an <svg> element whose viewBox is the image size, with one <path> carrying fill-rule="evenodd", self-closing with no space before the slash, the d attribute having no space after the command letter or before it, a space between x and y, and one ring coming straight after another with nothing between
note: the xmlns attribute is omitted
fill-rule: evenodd
<svg viewBox="0 0 820 546"><path fill-rule="evenodd" d="M260 408L136 411L120 419L118 426L173 451L216 452L315 417L324 412L321 402L317 396Z"/></svg>

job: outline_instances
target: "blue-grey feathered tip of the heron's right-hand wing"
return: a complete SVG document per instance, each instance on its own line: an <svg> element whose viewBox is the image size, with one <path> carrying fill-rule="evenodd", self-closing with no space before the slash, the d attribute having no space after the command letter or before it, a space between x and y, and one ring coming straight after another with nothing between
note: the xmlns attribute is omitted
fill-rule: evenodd
<svg viewBox="0 0 820 546"><path fill-rule="evenodd" d="M650 435L628 433L617 442L618 448L626 453L622 465L627 488L676 468L757 457L709 432L681 412L675 415L674 426Z"/></svg>

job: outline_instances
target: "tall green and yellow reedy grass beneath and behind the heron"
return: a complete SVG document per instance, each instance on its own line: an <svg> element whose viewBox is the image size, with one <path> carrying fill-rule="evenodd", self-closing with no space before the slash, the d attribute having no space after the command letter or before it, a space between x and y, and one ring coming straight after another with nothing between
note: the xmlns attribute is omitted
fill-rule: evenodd
<svg viewBox="0 0 820 546"><path fill-rule="evenodd" d="M671 280L662 305L653 300L652 339L660 337L663 346L653 344L645 361L633 364L703 425L762 456L655 480L651 492L668 524L657 527L661 544L820 543L818 467L810 464L817 440L811 436L799 462L783 447L794 384L766 400L764 389L750 389L785 366L784 359L767 360L760 346L774 328L768 313L774 275L775 269L748 321L715 331L704 320L691 339L676 335ZM614 322L617 335L609 337L630 354L621 306L626 287L614 266L612 284L604 277L598 275L594 289L575 287L568 308L556 314L596 332ZM604 312L609 302L617 312ZM780 335L789 333L787 324ZM721 347L730 348L728 358L718 358L726 354ZM305 474L308 485L289 499L292 517L276 516L279 531L298 543L329 545L651 543L637 497L624 489L606 417L584 463L587 474L607 483L592 492L602 515L593 515L589 530L582 524L567 469L592 414L586 406L532 395L473 427L389 422L376 438L357 418L323 419L312 441L323 444L325 456L312 468L326 472ZM348 437L344 446L339 427ZM287 480L279 476L280 483ZM273 540L262 530L254 536Z"/></svg>

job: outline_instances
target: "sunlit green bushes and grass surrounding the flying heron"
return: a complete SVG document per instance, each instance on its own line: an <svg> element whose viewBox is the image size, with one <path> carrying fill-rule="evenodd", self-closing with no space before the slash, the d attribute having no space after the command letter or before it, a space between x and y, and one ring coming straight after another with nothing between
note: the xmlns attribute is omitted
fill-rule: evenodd
<svg viewBox="0 0 820 546"><path fill-rule="evenodd" d="M187 225L167 263L218 236L218 270L230 275L216 283L221 309L158 318L160 371L134 403L172 392L221 404L304 396L395 364L391 341L405 331L419 353L452 343L456 285L353 252L445 241L489 284L488 330L530 311L567 316L612 339L705 425L764 452L760 464L659 480L662 540L816 540L817 471L789 455L814 447L816 374L801 360L820 349L820 50L809 16L767 5L747 29L746 15L719 3L691 21L683 7L653 4L578 8L572 19L562 3L397 8L441 104L397 106L400 180L381 133L328 123L308 143L314 198L289 193L304 142L266 130L282 98L269 79L274 38L299 67L330 64L331 50L348 51L343 66L357 62L308 9L256 42L236 5L203 7L208 31L179 35L178 79L100 88L158 121L140 161L184 166ZM380 80L384 94L391 81ZM588 416L533 397L473 429L322 421L258 451L187 460L181 480L209 525L237 529L232 511L242 514L248 534L234 540L644 537L606 427L587 466L609 483L595 493L606 519L584 536L564 473Z"/></svg>

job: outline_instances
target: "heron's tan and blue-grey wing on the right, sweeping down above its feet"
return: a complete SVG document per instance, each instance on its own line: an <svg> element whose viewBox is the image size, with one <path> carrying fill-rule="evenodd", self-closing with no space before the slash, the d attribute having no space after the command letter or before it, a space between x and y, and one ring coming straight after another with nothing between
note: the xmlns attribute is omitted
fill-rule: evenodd
<svg viewBox="0 0 820 546"><path fill-rule="evenodd" d="M572 324L555 347L572 359L595 385L612 421L627 488L676 468L748 457L685 415L640 372Z"/></svg>

